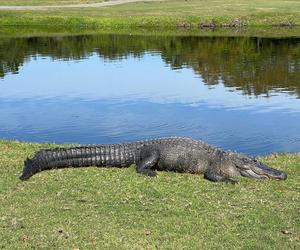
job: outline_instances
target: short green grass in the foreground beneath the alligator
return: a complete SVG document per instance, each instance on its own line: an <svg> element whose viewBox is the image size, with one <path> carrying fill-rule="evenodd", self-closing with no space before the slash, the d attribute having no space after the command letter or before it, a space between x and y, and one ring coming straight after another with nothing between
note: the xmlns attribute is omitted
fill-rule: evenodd
<svg viewBox="0 0 300 250"><path fill-rule="evenodd" d="M18 180L23 160L48 144L0 141L0 248L297 249L300 155L266 156L286 181L202 176L133 167L44 171Z"/></svg>

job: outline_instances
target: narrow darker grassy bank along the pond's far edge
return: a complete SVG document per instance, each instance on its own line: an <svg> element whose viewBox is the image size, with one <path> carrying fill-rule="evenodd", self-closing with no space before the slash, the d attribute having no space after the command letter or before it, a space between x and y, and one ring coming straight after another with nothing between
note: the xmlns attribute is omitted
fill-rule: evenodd
<svg viewBox="0 0 300 250"><path fill-rule="evenodd" d="M0 38L80 36L80 35L135 35L135 36L195 36L195 37L260 37L260 38L299 38L300 26L285 27L243 27L243 28L177 28L177 27L81 27L81 26L41 26L3 25Z"/></svg>

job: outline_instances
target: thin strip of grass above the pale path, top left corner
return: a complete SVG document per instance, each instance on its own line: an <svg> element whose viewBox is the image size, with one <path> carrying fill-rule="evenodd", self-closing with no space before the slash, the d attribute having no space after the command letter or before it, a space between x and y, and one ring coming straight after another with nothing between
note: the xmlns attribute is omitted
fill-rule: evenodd
<svg viewBox="0 0 300 250"><path fill-rule="evenodd" d="M0 0L1 5L27 6L27 5L65 5L82 3L99 3L105 0Z"/></svg>

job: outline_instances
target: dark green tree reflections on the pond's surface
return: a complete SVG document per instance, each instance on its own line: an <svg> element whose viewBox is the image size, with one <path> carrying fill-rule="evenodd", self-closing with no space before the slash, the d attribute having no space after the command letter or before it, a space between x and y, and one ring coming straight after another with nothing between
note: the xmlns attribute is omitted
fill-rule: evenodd
<svg viewBox="0 0 300 250"><path fill-rule="evenodd" d="M207 85L220 82L247 95L280 88L300 97L300 39L81 35L0 39L0 77L35 56L107 60L158 53L172 68L187 67Z"/></svg>

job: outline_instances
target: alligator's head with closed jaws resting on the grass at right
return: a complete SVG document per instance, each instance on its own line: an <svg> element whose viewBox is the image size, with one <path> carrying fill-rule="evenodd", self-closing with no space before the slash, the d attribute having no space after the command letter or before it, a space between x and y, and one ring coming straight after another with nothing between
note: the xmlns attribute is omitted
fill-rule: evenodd
<svg viewBox="0 0 300 250"><path fill-rule="evenodd" d="M268 167L255 158L241 154L231 154L231 159L242 176L256 179L277 179L285 180L287 174Z"/></svg>

